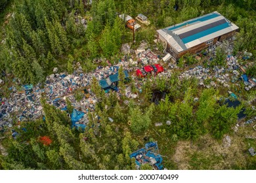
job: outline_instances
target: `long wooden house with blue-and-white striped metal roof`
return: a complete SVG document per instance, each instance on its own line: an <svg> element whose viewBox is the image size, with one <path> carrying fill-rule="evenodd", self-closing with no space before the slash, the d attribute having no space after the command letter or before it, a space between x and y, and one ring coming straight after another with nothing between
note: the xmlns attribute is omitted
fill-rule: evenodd
<svg viewBox="0 0 256 183"><path fill-rule="evenodd" d="M215 11L157 32L158 41L163 42L167 52L176 61L186 53L200 52L217 41L234 36L238 29L238 26Z"/></svg>

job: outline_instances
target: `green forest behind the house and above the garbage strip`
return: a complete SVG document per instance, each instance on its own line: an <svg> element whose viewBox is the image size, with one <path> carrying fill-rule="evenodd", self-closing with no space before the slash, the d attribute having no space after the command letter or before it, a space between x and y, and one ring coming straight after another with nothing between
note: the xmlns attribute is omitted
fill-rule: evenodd
<svg viewBox="0 0 256 183"><path fill-rule="evenodd" d="M89 5L87 1L45 0L13 4L2 33L0 65L4 72L12 71L24 83L41 82L56 65L72 73L69 63L80 61L89 71L95 69L93 59L117 56L121 43L131 41L132 36L125 33L116 12L146 14L153 25L138 32L137 42L152 42L158 28L217 10L240 27L236 50L255 52L255 1L106 0ZM87 18L86 29L82 17Z"/></svg>

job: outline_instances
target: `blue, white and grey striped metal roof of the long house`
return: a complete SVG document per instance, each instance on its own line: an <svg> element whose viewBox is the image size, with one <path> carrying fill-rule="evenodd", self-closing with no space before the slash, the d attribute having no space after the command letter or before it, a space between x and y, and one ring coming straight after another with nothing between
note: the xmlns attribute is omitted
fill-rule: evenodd
<svg viewBox="0 0 256 183"><path fill-rule="evenodd" d="M232 24L224 16L219 14L219 12L215 11L198 18L187 20L181 24L159 29L158 33L177 52L182 52L236 29L238 29L238 26Z"/></svg>

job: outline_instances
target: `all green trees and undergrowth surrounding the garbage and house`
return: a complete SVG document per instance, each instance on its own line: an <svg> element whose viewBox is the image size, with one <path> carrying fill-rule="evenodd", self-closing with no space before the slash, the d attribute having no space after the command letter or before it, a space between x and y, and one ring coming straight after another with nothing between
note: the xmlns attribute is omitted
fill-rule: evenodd
<svg viewBox="0 0 256 183"><path fill-rule="evenodd" d="M150 20L150 26L135 33L136 42L131 47L137 48L142 40L153 45L157 29L216 10L240 27L233 54L247 50L255 57L255 0L1 0L0 77L7 85L11 78L17 78L20 84L38 84L45 82L54 67L72 74L78 62L85 73L98 67L98 58L117 63L123 56L121 45L133 42L133 32L125 28L117 14L135 17L142 13ZM191 56L190 64L188 58L186 65L193 65L195 59ZM219 58L217 54L213 64L221 65L222 58L221 53ZM255 76L255 58L251 62L253 66L247 72ZM184 70L182 61L178 64ZM121 99L114 92L106 95L94 78L91 89L98 103L95 112L89 113L85 131L72 129L66 112L49 105L42 97L45 118L15 121L19 134L16 139L8 132L0 134L7 137L0 142L8 154L0 155L0 169L135 169L135 160L129 155L148 141L158 141L167 169L255 169L256 157L246 155L248 146L256 148L255 139L244 138L244 133L252 132L245 128L239 133L232 130L241 108L246 109L247 118L255 115L246 102L255 97L255 90L242 91L242 105L228 108L221 101L226 89L198 88L196 78L180 80L180 72L173 72L168 80L147 80L139 101L125 98L122 91ZM119 88L125 84L121 79ZM129 84L137 90L135 81ZM8 87L1 88L0 94L4 95ZM240 90L235 84L231 88ZM168 93L159 105L151 101L154 90ZM199 97L196 102L195 97ZM129 105L125 105L125 100L129 100ZM71 105L68 110L72 111ZM110 116L113 123L108 120ZM155 127L154 122L166 120L171 125ZM216 148L226 134L241 145L232 146L231 155ZM194 148L178 157L175 150L188 144ZM181 166L182 157L189 159L188 167ZM140 169L152 167L144 165Z"/></svg>

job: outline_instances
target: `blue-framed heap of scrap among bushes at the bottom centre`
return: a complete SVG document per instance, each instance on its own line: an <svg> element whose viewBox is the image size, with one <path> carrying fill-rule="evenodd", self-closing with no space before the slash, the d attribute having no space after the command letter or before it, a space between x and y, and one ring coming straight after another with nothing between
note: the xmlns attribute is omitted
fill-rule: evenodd
<svg viewBox="0 0 256 183"><path fill-rule="evenodd" d="M139 169L141 165L149 163L152 165L154 170L163 169L161 165L163 158L159 154L158 142L148 142L145 144L144 148L141 148L130 155L130 158L135 158L135 163Z"/></svg>

